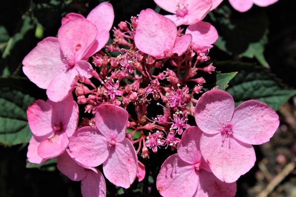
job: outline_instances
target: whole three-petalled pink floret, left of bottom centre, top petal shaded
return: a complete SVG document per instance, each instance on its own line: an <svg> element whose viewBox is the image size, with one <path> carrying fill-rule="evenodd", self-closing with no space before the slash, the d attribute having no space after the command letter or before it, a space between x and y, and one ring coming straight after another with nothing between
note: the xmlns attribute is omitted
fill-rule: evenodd
<svg viewBox="0 0 296 197"><path fill-rule="evenodd" d="M106 178L116 186L129 188L138 171L138 158L126 137L128 113L112 105L101 104L96 110L96 127L83 127L70 139L71 156L80 164L103 164Z"/></svg>

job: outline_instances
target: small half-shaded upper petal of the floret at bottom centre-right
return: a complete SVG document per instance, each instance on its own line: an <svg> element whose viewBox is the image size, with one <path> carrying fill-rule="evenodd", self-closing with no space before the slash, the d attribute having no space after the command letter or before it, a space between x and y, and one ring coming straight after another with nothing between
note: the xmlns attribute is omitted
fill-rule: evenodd
<svg viewBox="0 0 296 197"><path fill-rule="evenodd" d="M190 127L184 131L178 144L178 155L183 161L189 164L201 162L202 156L199 148L201 134L202 131L198 127Z"/></svg>

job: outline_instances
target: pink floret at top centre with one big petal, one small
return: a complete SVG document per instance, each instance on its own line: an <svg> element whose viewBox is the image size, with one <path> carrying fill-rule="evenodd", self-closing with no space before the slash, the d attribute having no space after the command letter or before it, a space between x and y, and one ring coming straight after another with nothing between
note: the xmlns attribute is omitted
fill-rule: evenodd
<svg viewBox="0 0 296 197"><path fill-rule="evenodd" d="M135 44L140 51L157 59L171 58L174 53L181 56L191 40L190 34L177 37L175 23L152 9L140 12L135 34Z"/></svg>

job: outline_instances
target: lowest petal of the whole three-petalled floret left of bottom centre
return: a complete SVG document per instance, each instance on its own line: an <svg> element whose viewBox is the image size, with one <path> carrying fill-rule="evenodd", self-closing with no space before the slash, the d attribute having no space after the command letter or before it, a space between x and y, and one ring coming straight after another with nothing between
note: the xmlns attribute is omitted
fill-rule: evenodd
<svg viewBox="0 0 296 197"><path fill-rule="evenodd" d="M138 171L138 158L132 143L124 138L110 150L110 156L103 164L106 178L118 187L129 188Z"/></svg>

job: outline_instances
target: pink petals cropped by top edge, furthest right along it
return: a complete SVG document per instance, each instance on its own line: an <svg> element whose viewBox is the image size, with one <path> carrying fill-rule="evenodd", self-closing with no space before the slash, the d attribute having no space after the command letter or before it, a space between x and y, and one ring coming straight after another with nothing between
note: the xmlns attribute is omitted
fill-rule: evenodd
<svg viewBox="0 0 296 197"><path fill-rule="evenodd" d="M266 7L268 5L271 5L278 0L229 0L229 3L232 5L234 9L236 9L239 12L246 12L253 4L256 4L260 7Z"/></svg>

